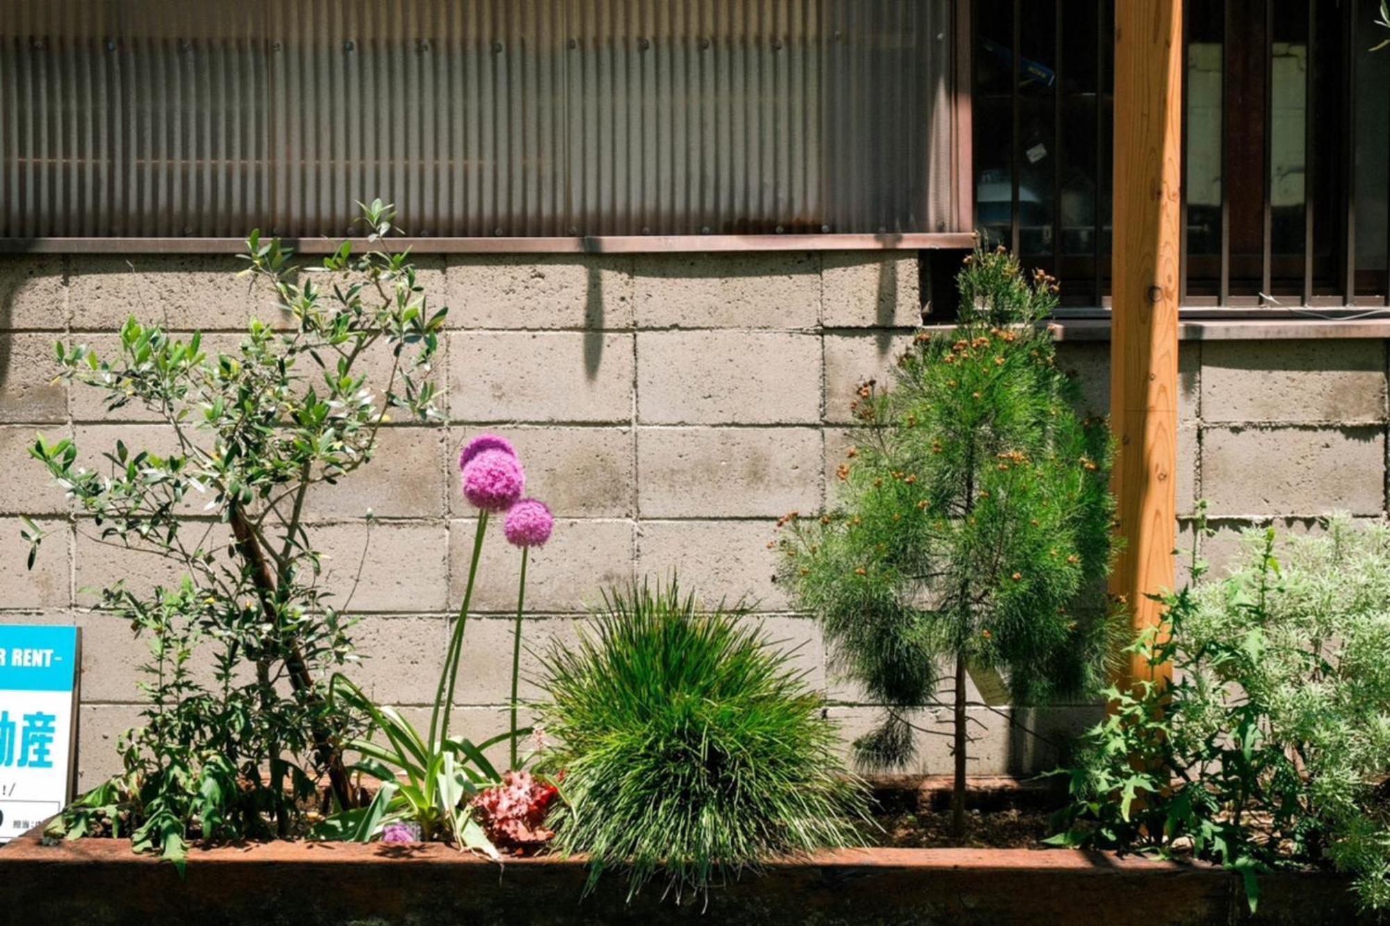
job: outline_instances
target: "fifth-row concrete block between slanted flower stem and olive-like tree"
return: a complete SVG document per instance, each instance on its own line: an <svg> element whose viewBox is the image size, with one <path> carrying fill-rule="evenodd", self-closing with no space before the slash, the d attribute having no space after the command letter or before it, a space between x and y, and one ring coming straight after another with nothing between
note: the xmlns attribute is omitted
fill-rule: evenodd
<svg viewBox="0 0 1390 926"><path fill-rule="evenodd" d="M361 617L349 631L359 662L343 674L378 704L432 704L449 649L448 623L443 615Z"/></svg>

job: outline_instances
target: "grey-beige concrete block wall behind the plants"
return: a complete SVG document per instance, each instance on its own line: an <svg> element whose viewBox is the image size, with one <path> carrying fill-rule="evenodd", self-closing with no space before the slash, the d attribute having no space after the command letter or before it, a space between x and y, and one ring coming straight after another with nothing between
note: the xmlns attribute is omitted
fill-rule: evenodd
<svg viewBox="0 0 1390 926"><path fill-rule="evenodd" d="M328 581L360 616L360 680L421 716L443 659L448 617L467 574L475 521L455 459L482 430L512 438L528 494L555 509L532 559L527 641L573 640L605 585L678 569L709 599L749 594L778 645L831 699L845 736L874 712L827 667L813 622L773 581L773 521L833 492L858 382L885 377L922 320L915 254L420 256L421 281L449 306L436 377L448 423L384 430L377 459L310 499ZM158 446L138 409L107 413L53 384L53 341L114 345L131 313L235 345L252 316L277 317L232 257L13 256L0 259L0 622L78 623L85 631L82 781L114 769L115 737L138 720L145 644L90 609L83 590L115 577L171 578L153 558L95 542L38 463L35 431L74 435L92 466L120 437ZM1065 342L1083 406L1104 412L1109 345ZM1184 342L1179 494L1184 519L1208 498L1229 555L1236 531L1276 519L1315 528L1332 507L1386 512L1386 345L1382 341ZM368 530L367 510L374 514ZM18 516L51 528L33 571ZM1187 521L1184 520L1184 526ZM493 535L484 553L456 729L506 723L517 558ZM359 574L359 564L363 569ZM523 691L538 694L535 659ZM1044 734L1091 709L1030 710ZM983 712L979 773L1045 766L1055 752ZM947 717L923 713L922 726ZM1049 737L1051 738L1051 737ZM923 736L919 769L944 772L942 737Z"/></svg>

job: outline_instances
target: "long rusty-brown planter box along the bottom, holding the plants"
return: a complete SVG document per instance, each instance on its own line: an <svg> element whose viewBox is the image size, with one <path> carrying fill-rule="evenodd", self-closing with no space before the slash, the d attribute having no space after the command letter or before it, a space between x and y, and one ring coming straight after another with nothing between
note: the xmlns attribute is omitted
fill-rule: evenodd
<svg viewBox="0 0 1390 926"><path fill-rule="evenodd" d="M271 843L195 851L188 876L124 840L0 848L0 920L43 923L1238 923L1238 880L1179 865L1068 850L863 850L778 862L710 891L708 909L660 890L626 902L606 876L581 900L581 861L498 866L445 845ZM1320 872L1262 880L1257 923L1351 923L1347 882ZM6 916L14 916L7 920Z"/></svg>

